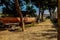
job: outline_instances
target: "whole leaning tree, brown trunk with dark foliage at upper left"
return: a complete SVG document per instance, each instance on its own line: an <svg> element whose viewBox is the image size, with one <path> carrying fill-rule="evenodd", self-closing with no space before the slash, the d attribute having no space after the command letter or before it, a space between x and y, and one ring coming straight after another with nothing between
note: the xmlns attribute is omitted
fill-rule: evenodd
<svg viewBox="0 0 60 40"><path fill-rule="evenodd" d="M14 3L12 3L11 0L0 0L0 1L1 1L0 5L3 5L3 4L5 5L6 8L4 10L6 11L7 14L11 13L12 11L18 13L18 16L21 19L22 31L24 31L24 21L23 21L23 16L22 16L21 9L20 9L21 6L19 4L19 0L14 0ZM13 5L10 5L10 2Z"/></svg>

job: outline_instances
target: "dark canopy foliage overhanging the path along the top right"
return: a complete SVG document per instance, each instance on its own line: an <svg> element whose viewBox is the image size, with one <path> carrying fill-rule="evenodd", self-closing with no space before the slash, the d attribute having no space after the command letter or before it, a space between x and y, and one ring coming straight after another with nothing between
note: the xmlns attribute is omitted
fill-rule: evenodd
<svg viewBox="0 0 60 40"><path fill-rule="evenodd" d="M57 0L31 0L32 2L35 2L35 5L40 8L54 8L57 6Z"/></svg>

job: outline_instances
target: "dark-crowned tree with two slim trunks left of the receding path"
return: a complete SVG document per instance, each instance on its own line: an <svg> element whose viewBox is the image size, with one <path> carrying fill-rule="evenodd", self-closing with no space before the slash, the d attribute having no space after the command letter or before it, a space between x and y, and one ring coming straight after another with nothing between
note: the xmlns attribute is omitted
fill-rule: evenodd
<svg viewBox="0 0 60 40"><path fill-rule="evenodd" d="M39 8L39 16L38 19L40 19L40 14L41 14L41 20L43 21L43 15L44 15L44 10L47 6L47 0L31 0L32 2L35 2L35 6Z"/></svg>

